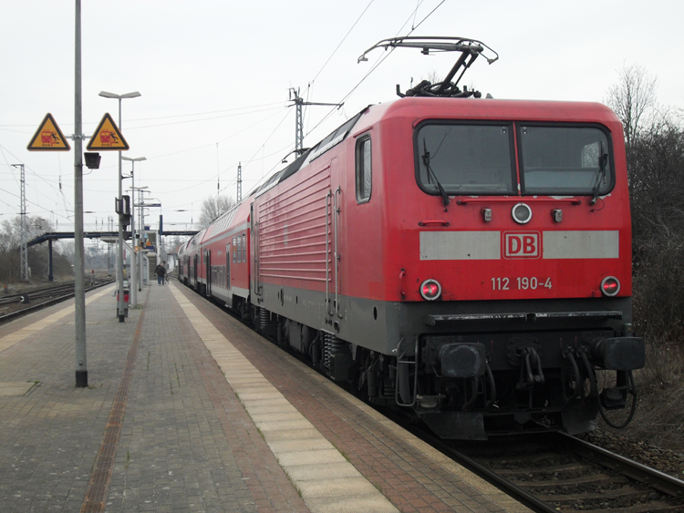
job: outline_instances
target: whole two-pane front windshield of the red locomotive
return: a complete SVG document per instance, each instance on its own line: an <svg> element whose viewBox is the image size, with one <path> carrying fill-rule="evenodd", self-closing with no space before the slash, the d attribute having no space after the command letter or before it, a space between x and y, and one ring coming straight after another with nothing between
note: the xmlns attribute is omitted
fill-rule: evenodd
<svg viewBox="0 0 684 513"><path fill-rule="evenodd" d="M520 187L514 162L518 134ZM612 149L596 126L422 123L414 136L416 178L435 195L604 195Z"/></svg>

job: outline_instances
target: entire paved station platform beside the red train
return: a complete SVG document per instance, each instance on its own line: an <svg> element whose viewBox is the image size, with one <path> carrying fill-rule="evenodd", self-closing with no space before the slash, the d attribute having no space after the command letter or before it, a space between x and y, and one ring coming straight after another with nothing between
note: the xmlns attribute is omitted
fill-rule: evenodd
<svg viewBox="0 0 684 513"><path fill-rule="evenodd" d="M0 511L528 511L178 282L0 326Z"/></svg>

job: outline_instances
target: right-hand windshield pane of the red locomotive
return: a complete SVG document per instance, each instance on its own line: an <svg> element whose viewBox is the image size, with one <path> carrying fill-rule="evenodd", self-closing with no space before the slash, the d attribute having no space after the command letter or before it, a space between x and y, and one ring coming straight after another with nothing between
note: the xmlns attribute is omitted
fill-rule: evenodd
<svg viewBox="0 0 684 513"><path fill-rule="evenodd" d="M598 194L612 185L608 139L599 128L521 126L523 194Z"/></svg>

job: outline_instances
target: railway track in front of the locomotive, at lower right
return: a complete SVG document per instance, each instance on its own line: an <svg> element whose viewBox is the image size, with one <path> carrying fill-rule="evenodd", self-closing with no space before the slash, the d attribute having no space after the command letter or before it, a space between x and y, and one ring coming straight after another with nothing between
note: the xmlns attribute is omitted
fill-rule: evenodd
<svg viewBox="0 0 684 513"><path fill-rule="evenodd" d="M467 445L427 437L534 511L684 512L684 481L574 436L508 436Z"/></svg>

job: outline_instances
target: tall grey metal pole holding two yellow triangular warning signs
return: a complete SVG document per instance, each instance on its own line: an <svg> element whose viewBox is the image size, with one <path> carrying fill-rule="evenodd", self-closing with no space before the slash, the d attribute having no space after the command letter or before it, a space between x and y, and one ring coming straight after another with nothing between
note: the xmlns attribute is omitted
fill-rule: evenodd
<svg viewBox="0 0 684 513"><path fill-rule="evenodd" d="M81 112L81 2L76 0L74 87L74 272L76 300L76 386L88 386L86 360L86 283L83 276L83 128Z"/></svg>

